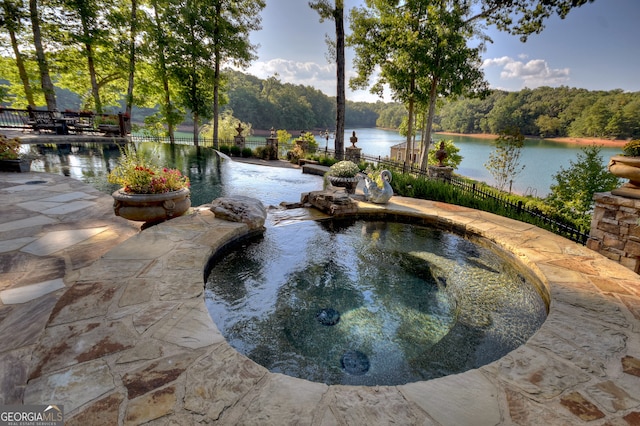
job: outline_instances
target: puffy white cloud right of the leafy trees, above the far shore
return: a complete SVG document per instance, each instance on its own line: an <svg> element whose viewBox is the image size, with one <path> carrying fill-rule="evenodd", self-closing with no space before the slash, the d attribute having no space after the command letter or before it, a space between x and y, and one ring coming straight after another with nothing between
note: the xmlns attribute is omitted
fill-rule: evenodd
<svg viewBox="0 0 640 426"><path fill-rule="evenodd" d="M520 55L522 57L523 55ZM528 62L518 61L509 56L485 59L483 68L500 67L500 78L504 80L521 80L522 87L530 89L540 86L559 86L569 81L569 68L550 68L544 59L532 59Z"/></svg>

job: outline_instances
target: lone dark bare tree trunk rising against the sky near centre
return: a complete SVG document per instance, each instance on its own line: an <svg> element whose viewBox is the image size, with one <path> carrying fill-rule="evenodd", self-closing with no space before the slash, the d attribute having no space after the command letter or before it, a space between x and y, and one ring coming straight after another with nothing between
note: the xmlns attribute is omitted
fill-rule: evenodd
<svg viewBox="0 0 640 426"><path fill-rule="evenodd" d="M346 109L345 95L345 59L344 59L344 2L336 0L336 135L335 156L336 159L344 158L344 120Z"/></svg>

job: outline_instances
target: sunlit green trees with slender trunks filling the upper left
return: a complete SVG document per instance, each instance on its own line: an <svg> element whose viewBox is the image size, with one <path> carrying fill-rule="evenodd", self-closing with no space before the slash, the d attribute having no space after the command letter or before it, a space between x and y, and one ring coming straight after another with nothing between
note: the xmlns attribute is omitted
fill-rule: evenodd
<svg viewBox="0 0 640 426"><path fill-rule="evenodd" d="M82 108L157 109L175 126L188 112L199 125L219 116L221 70L255 58L264 0L2 0L0 93L14 106L58 108L56 88ZM197 143L197 140L196 140Z"/></svg>

